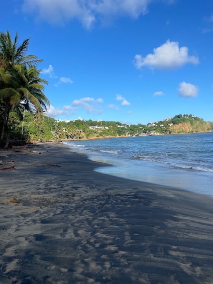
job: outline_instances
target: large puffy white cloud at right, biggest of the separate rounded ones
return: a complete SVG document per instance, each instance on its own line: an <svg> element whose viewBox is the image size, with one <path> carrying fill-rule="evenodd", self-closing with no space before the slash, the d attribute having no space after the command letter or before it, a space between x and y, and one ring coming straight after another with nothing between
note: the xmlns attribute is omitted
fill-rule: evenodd
<svg viewBox="0 0 213 284"><path fill-rule="evenodd" d="M151 69L166 70L179 68L187 63L198 64L199 59L196 56L189 56L186 46L179 47L178 42L170 42L169 40L154 48L153 53L148 54L146 57L136 54L134 60L134 64L138 69L147 66Z"/></svg>

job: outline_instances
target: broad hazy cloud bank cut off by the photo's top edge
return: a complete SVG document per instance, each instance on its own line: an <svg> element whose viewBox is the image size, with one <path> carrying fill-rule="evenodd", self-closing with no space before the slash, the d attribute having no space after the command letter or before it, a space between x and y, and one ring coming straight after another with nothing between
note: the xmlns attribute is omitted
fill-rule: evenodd
<svg viewBox="0 0 213 284"><path fill-rule="evenodd" d="M24 0L23 11L37 15L37 20L50 24L64 24L77 19L90 28L98 19L112 16L138 18L148 13L154 0ZM165 0L169 3L171 0Z"/></svg>

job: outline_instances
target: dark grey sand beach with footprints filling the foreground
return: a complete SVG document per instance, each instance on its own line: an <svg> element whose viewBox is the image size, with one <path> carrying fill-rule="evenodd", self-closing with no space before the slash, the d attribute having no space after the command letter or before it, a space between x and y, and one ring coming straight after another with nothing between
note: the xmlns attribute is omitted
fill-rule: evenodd
<svg viewBox="0 0 213 284"><path fill-rule="evenodd" d="M62 143L0 161L1 283L213 283L212 198L94 172Z"/></svg>

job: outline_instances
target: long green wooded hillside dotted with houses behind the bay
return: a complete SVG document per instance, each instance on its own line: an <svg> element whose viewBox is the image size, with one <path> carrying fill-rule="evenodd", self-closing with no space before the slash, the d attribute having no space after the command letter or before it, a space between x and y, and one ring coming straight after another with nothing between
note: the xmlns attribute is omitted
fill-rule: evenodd
<svg viewBox="0 0 213 284"><path fill-rule="evenodd" d="M176 115L173 118L166 118L147 125L128 125L115 121L92 120L65 122L27 112L23 121L20 114L12 112L9 119L9 129L10 140L33 142L212 132L213 122L205 122L194 115Z"/></svg>

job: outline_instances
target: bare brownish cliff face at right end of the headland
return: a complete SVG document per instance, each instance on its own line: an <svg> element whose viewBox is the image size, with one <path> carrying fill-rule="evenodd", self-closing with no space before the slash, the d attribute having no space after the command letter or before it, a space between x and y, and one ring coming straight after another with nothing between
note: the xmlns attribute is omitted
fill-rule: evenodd
<svg viewBox="0 0 213 284"><path fill-rule="evenodd" d="M211 132L212 130L213 123L205 121L185 122L170 126L171 133Z"/></svg>

